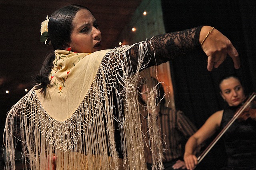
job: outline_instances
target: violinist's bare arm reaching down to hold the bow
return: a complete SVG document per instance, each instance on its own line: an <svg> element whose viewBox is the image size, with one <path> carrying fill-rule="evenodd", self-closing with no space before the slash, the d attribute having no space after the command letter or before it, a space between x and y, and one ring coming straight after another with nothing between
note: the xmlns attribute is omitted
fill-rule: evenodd
<svg viewBox="0 0 256 170"><path fill-rule="evenodd" d="M210 138L220 127L222 115L223 110L214 113L207 119L204 125L188 139L184 153L184 161L187 169L193 170L198 164L194 151L198 146L200 146L200 144L202 144L202 142Z"/></svg>

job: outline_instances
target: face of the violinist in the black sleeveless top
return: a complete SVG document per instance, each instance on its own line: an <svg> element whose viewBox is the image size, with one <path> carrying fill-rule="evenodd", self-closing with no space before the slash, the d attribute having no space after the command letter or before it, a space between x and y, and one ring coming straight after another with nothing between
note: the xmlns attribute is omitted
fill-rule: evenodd
<svg viewBox="0 0 256 170"><path fill-rule="evenodd" d="M229 106L238 106L244 99L244 89L240 81L234 77L225 79L220 83L221 96Z"/></svg>

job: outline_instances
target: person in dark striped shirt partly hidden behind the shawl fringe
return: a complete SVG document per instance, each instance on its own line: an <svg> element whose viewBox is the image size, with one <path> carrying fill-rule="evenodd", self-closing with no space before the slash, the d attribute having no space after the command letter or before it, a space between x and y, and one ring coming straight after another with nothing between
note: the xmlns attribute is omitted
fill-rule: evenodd
<svg viewBox="0 0 256 170"><path fill-rule="evenodd" d="M159 83L160 97L158 99L162 99L161 103L164 102L163 96L161 93L163 92L162 86ZM150 114L152 111L146 110L146 92L147 87L142 85L140 87L140 103L141 107L141 120L142 120L142 131L146 134L146 143L147 146L150 146L150 142L148 141L148 120L147 114ZM156 101L158 102L158 101ZM197 130L195 125L184 115L182 111L176 111L174 109L166 107L164 104L158 105L156 108L156 112L158 115L158 126L160 128L160 134L162 134L163 149L164 149L164 168L166 170L172 169L185 169L185 163L183 161L184 154L184 146L186 141L192 134L194 134ZM200 150L200 148L198 148ZM145 160L148 165L148 169L151 169L152 166L152 154L150 152L150 147L146 147L144 150Z"/></svg>

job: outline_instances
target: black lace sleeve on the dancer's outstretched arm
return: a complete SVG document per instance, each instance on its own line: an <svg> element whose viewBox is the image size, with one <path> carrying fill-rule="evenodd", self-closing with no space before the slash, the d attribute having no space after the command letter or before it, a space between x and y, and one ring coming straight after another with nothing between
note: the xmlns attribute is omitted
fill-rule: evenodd
<svg viewBox="0 0 256 170"><path fill-rule="evenodd" d="M148 45L149 55L144 58L144 63L148 63L146 67L165 63L174 57L199 48L201 28L202 26L198 26L184 31L161 34L149 38L145 42L141 42ZM139 46L140 43L137 43L128 50L131 54L130 61L133 69L137 67ZM155 57L151 57L150 55L155 55Z"/></svg>

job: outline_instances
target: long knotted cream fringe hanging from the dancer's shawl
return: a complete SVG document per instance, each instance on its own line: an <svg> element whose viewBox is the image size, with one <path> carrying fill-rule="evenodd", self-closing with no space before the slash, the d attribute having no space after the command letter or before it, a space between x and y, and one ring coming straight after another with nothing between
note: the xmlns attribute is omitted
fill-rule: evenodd
<svg viewBox="0 0 256 170"><path fill-rule="evenodd" d="M50 117L42 107L34 89L30 90L8 112L5 127L6 169L15 169L15 148L22 144L24 169L40 170L106 170L146 169L144 141L141 130L138 81L139 70L146 67L144 57L151 56L146 42L139 45L138 67L132 69L131 46L110 50L103 57L88 93L65 121ZM150 79L148 73L148 80ZM152 88L151 96L156 95ZM154 110L155 99L150 98ZM114 103L116 103L114 105ZM117 114L116 114L117 113ZM156 114L148 114L153 169L162 169L162 143ZM121 134L123 159L118 158L114 140L115 126ZM17 134L18 133L18 134ZM53 156L56 162L53 163Z"/></svg>

